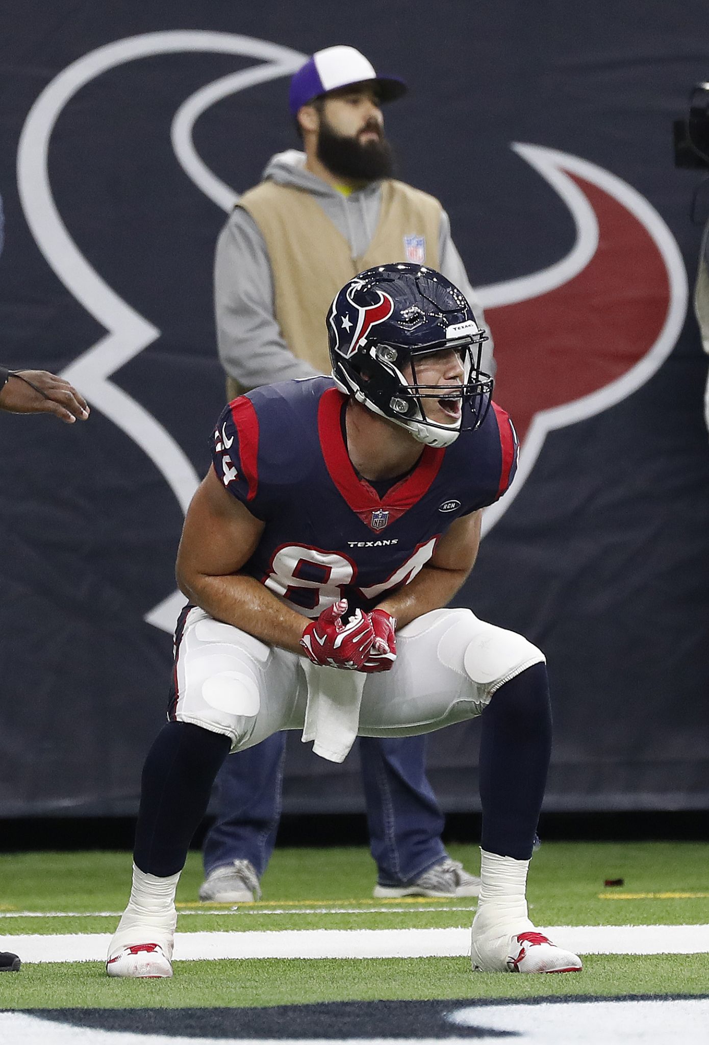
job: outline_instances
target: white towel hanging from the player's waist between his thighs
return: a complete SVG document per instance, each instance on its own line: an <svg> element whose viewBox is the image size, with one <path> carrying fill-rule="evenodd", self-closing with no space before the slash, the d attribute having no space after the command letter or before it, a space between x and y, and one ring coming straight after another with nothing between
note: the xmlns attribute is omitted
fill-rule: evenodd
<svg viewBox="0 0 709 1045"><path fill-rule="evenodd" d="M325 668L305 660L308 702L303 743L313 741L315 754L328 762L342 762L359 728L359 705L367 674Z"/></svg>

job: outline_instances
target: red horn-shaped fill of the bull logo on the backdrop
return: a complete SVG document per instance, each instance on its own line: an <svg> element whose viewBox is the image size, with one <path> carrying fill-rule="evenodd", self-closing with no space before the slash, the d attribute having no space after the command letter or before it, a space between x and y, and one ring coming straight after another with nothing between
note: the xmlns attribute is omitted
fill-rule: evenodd
<svg viewBox="0 0 709 1045"><path fill-rule="evenodd" d="M596 392L639 363L670 305L665 258L645 225L610 190L564 173L595 213L593 257L556 289L486 311L498 365L495 399L520 439L535 414Z"/></svg>

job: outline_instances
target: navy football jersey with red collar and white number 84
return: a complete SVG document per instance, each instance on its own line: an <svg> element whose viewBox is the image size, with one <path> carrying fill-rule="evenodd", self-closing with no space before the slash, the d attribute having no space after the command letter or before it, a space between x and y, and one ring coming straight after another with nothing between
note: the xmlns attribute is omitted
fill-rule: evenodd
<svg viewBox="0 0 709 1045"><path fill-rule="evenodd" d="M268 385L229 403L214 433L216 474L265 522L244 572L310 618L341 597L369 610L410 581L451 522L497 501L517 467L515 429L492 403L477 431L425 446L380 497L350 461L346 403L329 377Z"/></svg>

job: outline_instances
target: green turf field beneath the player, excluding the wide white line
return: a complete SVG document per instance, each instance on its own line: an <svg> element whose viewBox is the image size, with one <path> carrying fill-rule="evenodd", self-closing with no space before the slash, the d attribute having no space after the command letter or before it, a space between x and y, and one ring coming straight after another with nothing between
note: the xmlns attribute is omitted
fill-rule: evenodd
<svg viewBox="0 0 709 1045"><path fill-rule="evenodd" d="M450 851L475 869L472 846ZM531 865L530 915L540 926L709 924L708 865L704 843L547 842ZM22 956L23 934L111 932L127 897L129 868L125 853L0 856L0 949ZM263 901L224 909L198 904L202 867L198 854L191 854L178 893L179 930L470 925L474 900L373 901L373 868L364 850L280 850L263 880ZM620 878L621 887L604 885ZM19 974L2 977L0 1007L678 993L709 993L709 954L670 960L595 955L578 975L530 977L473 975L465 958L178 961L171 981L109 980L97 962L25 963Z"/></svg>

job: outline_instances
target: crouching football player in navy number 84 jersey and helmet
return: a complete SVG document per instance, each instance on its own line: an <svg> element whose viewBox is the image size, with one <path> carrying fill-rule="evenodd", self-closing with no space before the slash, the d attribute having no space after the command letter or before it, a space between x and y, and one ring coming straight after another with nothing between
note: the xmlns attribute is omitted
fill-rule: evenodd
<svg viewBox="0 0 709 1045"><path fill-rule="evenodd" d="M468 609L480 510L516 468L480 370L485 335L444 276L361 273L328 318L332 377L224 410L178 554L169 721L145 763L128 906L111 976L170 976L174 892L230 750L303 729L341 761L354 737L481 716L481 890L472 963L572 972L527 916L551 719L543 654Z"/></svg>

